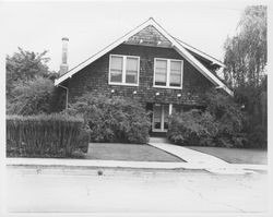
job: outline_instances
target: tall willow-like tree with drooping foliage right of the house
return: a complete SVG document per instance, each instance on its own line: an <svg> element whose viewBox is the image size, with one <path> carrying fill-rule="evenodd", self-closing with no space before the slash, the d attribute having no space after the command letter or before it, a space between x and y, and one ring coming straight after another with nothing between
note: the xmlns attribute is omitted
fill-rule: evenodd
<svg viewBox="0 0 273 217"><path fill-rule="evenodd" d="M253 147L264 147L266 138L266 7L248 7L238 23L238 33L225 43L224 75L242 105L245 132ZM254 138L253 135L256 134ZM266 142L266 141L265 141ZM263 144L262 144L263 143Z"/></svg>

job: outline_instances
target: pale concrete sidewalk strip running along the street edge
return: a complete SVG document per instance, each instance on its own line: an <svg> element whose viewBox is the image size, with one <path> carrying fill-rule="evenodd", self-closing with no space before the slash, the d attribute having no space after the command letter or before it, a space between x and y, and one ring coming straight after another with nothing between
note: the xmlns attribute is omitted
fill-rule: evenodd
<svg viewBox="0 0 273 217"><path fill-rule="evenodd" d="M8 167L45 167L45 168L85 168L85 169L146 169L146 170L205 170L218 174L246 174L257 171L268 171L264 165L232 165L215 167L190 162L157 162L157 161L120 161L90 159L40 159L40 158L7 158Z"/></svg>

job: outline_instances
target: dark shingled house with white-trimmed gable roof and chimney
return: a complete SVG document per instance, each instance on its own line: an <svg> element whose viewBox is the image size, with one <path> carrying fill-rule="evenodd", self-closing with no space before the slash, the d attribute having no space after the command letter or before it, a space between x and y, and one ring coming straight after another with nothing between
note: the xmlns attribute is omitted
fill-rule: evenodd
<svg viewBox="0 0 273 217"><path fill-rule="evenodd" d="M85 93L132 98L153 111L152 132L166 132L175 110L202 107L207 88L233 95L215 73L225 67L221 61L173 37L153 19L69 71L67 43L63 38L61 75L55 81L66 103Z"/></svg>

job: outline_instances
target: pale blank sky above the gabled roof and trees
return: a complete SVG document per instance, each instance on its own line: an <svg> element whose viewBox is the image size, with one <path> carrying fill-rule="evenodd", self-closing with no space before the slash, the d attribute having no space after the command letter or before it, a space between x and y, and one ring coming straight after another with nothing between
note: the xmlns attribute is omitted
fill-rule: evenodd
<svg viewBox="0 0 273 217"><path fill-rule="evenodd" d="M169 34L223 60L224 43L236 33L244 1L61 1L1 2L1 39L5 55L48 50L49 69L59 70L61 38L69 38L73 68L149 17Z"/></svg>

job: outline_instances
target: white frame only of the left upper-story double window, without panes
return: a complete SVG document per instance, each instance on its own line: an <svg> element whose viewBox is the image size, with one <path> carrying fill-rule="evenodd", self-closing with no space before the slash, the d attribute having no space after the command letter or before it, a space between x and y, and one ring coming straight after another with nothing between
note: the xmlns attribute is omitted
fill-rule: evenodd
<svg viewBox="0 0 273 217"><path fill-rule="evenodd" d="M121 83L120 82L110 82L111 80L111 73L110 73L110 67L111 67L111 57L121 57L122 60L122 72L121 72ZM138 59L138 77L136 77L136 84L132 83L126 83L126 67L127 67L127 58L136 58ZM109 56L109 69L108 69L108 84L111 85L124 85L124 86L139 86L139 80L140 80L140 57L138 56L123 56L123 55L110 55Z"/></svg>

